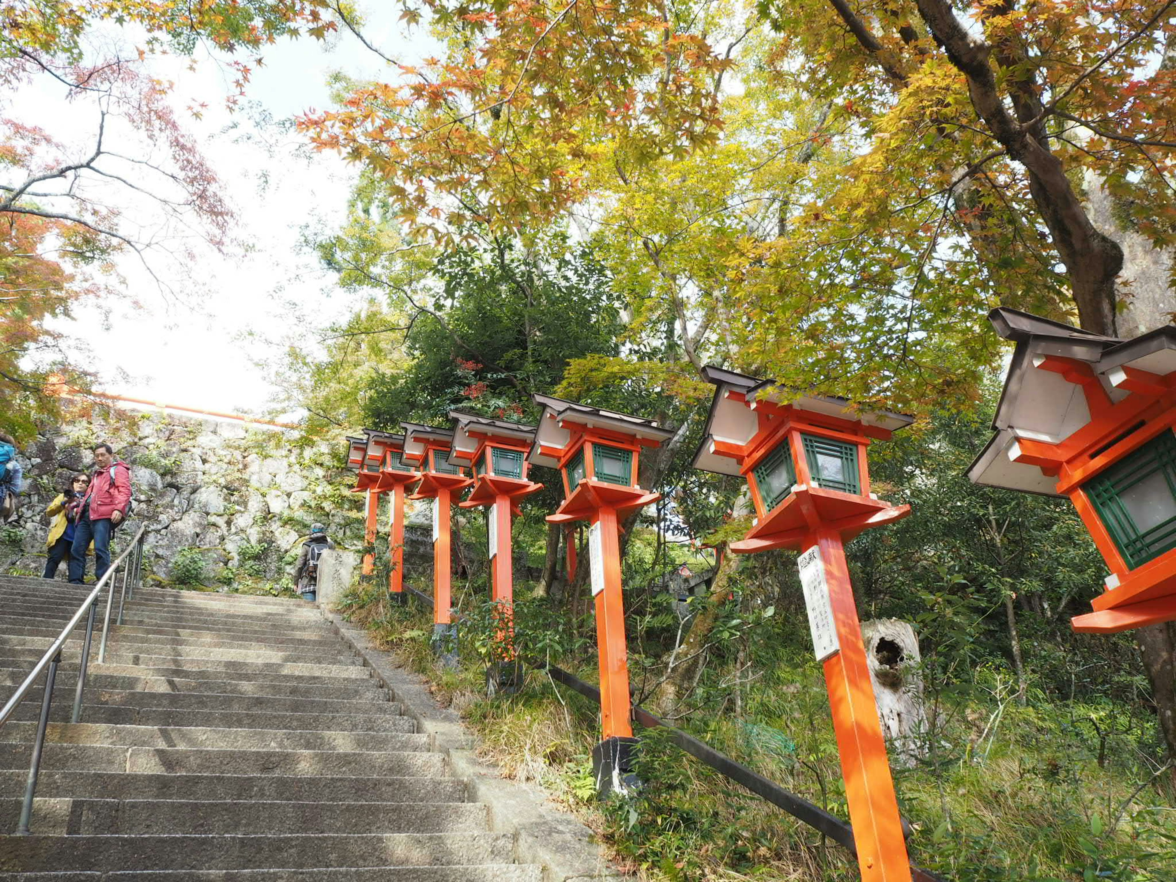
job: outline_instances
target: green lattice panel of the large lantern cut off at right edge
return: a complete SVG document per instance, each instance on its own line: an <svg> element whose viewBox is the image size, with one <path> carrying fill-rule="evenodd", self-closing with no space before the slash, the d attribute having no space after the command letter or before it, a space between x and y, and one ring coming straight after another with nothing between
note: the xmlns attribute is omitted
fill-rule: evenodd
<svg viewBox="0 0 1176 882"><path fill-rule="evenodd" d="M1176 434L1170 429L1082 489L1128 568L1176 548Z"/></svg>

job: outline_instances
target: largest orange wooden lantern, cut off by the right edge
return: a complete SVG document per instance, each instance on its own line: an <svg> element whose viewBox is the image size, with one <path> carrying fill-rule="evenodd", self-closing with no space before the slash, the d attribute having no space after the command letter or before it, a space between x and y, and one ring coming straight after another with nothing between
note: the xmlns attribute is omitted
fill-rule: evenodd
<svg viewBox="0 0 1176 882"><path fill-rule="evenodd" d="M1074 629L1176 620L1176 327L1100 336L994 309L1016 342L976 483L1069 496L1110 576Z"/></svg>

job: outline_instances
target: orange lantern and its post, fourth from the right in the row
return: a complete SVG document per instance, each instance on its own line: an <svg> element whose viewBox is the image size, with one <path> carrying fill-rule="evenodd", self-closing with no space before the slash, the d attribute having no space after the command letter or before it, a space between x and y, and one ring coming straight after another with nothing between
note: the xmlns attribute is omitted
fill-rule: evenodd
<svg viewBox="0 0 1176 882"><path fill-rule="evenodd" d="M492 420L462 410L450 410L454 421L449 462L473 469L473 487L461 508L486 508L489 533L490 600L499 604L503 629L499 635L500 662L487 670L487 690L513 691L520 684L510 628L514 603L514 572L510 515L519 503L539 493L543 485L527 477L527 450L535 437L534 426Z"/></svg>

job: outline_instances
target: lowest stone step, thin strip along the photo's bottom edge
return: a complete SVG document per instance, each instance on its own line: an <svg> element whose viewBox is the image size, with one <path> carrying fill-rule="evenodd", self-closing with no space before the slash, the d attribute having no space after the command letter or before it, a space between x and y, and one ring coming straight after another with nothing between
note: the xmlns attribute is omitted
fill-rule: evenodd
<svg viewBox="0 0 1176 882"><path fill-rule="evenodd" d="M309 870L152 870L123 873L0 873L0 882L542 882L529 863L455 867L316 867Z"/></svg>

